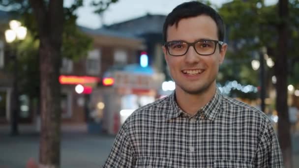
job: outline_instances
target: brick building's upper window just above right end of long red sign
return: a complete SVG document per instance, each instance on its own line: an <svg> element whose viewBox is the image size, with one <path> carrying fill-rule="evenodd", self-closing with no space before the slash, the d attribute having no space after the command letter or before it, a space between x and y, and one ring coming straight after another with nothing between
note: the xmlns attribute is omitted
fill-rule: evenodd
<svg viewBox="0 0 299 168"><path fill-rule="evenodd" d="M90 75L98 75L100 73L100 58L99 50L92 50L88 53L86 60L86 72Z"/></svg>

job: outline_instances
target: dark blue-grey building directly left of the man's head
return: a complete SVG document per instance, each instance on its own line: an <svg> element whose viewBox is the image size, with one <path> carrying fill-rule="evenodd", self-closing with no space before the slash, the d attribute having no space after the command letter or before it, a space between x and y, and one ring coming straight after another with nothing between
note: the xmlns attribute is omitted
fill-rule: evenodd
<svg viewBox="0 0 299 168"><path fill-rule="evenodd" d="M171 80L161 49L164 43L162 30L165 19L165 15L147 14L132 20L104 26L100 29L130 33L143 38L147 48L146 52L149 55L149 65L157 69L159 72L164 73L166 80Z"/></svg>

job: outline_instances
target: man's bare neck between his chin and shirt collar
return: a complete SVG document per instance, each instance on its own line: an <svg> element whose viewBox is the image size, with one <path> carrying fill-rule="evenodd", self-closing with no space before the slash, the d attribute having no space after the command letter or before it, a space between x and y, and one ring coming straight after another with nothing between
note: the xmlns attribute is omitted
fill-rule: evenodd
<svg viewBox="0 0 299 168"><path fill-rule="evenodd" d="M180 109L193 116L213 98L216 92L216 84L212 84L209 88L197 94L188 93L179 86L176 87L175 91Z"/></svg>

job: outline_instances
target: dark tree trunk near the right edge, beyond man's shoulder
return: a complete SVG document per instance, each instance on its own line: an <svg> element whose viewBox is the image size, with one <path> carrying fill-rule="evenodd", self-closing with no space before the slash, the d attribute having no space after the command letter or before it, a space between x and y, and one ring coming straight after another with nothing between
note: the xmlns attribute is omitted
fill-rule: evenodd
<svg viewBox="0 0 299 168"><path fill-rule="evenodd" d="M276 110L278 112L278 139L282 149L285 168L292 168L292 150L291 150L291 135L290 121L288 112L288 91L287 91L287 53L288 53L288 0L279 0L279 18L278 25L278 42L275 61L276 75Z"/></svg>

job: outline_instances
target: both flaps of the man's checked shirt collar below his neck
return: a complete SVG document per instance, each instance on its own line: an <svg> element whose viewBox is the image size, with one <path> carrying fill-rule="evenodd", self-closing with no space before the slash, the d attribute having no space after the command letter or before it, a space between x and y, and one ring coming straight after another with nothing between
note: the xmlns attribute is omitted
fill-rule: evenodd
<svg viewBox="0 0 299 168"><path fill-rule="evenodd" d="M222 104L222 95L220 90L217 88L216 93L213 98L207 103L204 107L198 110L195 115L196 118L200 117L199 114L204 114L205 118L209 120L214 120L215 116L219 113L219 109ZM175 91L169 96L170 106L166 112L166 119L172 119L178 117L183 111L179 108L179 105L176 101L176 93Z"/></svg>

